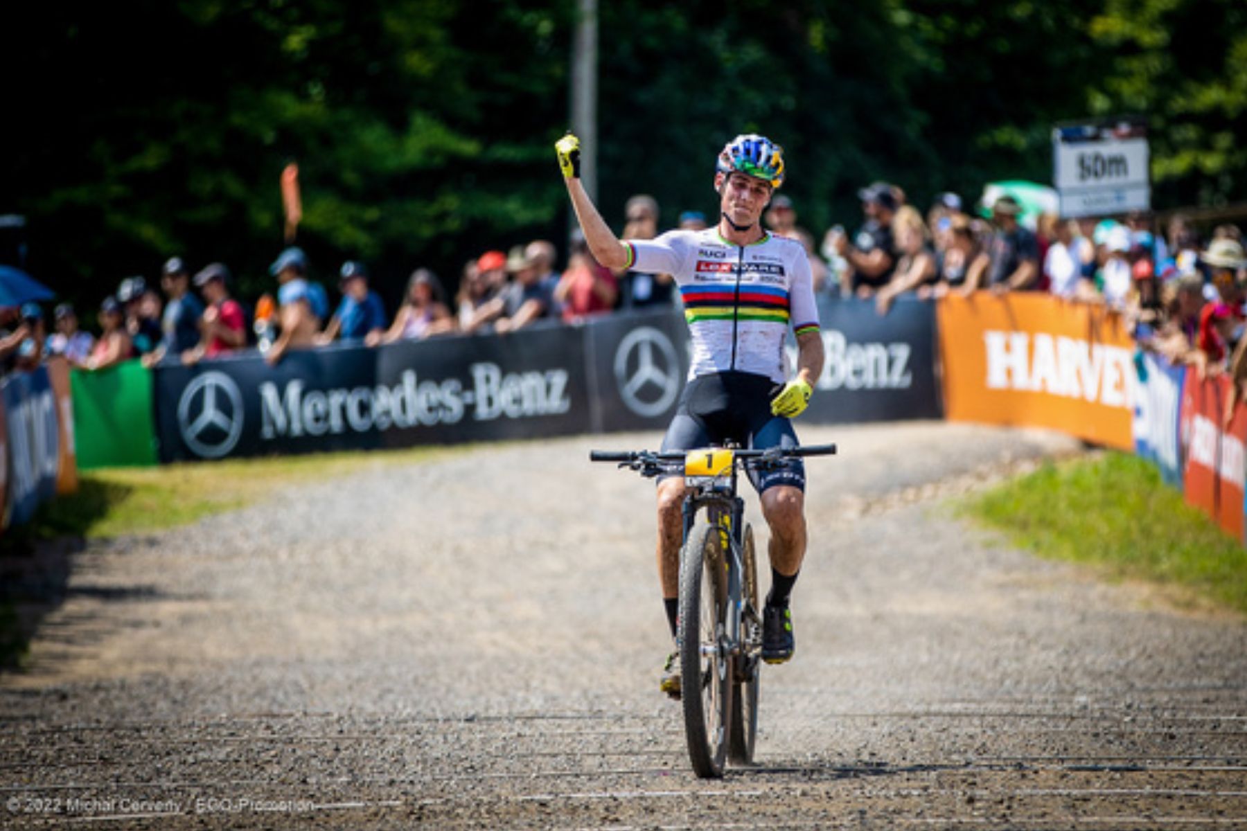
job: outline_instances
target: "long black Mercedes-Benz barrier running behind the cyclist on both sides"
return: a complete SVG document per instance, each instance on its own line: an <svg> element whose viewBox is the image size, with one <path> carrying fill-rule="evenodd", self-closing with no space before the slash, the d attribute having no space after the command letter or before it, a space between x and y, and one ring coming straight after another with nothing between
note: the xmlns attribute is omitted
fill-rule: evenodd
<svg viewBox="0 0 1247 831"><path fill-rule="evenodd" d="M932 304L827 303L813 422L940 416ZM796 346L792 348L796 354ZM369 349L258 353L152 373L163 462L662 430L688 368L675 311Z"/></svg>

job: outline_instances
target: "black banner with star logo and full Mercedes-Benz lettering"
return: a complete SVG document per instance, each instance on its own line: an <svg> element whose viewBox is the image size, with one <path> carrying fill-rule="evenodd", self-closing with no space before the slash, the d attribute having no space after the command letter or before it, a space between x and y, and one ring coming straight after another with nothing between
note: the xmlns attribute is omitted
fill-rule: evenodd
<svg viewBox="0 0 1247 831"><path fill-rule="evenodd" d="M556 326L161 365L162 461L589 430L582 334Z"/></svg>

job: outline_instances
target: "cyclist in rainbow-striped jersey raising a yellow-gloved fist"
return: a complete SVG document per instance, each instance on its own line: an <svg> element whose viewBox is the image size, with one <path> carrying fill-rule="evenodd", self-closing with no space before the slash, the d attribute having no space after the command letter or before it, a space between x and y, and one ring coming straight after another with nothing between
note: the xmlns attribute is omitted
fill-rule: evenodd
<svg viewBox="0 0 1247 831"><path fill-rule="evenodd" d="M718 156L715 189L720 221L703 230L671 230L656 239L621 242L580 182L580 140L556 145L567 193L599 263L614 270L672 274L692 339L692 365L663 451L736 441L749 447L797 446L789 419L804 411L823 368L823 341L809 259L802 244L767 233L762 213L784 179L783 150L769 140L737 136ZM784 339L797 336L797 374L788 379ZM799 460L751 477L771 528L771 592L763 609L762 658L792 658L789 598L806 554L806 472ZM658 578L672 637L677 629L680 544L685 482L658 482ZM661 689L680 695L676 654Z"/></svg>

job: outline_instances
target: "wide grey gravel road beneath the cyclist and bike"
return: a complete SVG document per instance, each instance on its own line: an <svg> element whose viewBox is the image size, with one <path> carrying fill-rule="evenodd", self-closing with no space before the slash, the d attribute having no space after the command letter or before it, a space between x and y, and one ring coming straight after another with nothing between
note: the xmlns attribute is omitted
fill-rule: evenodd
<svg viewBox="0 0 1247 831"><path fill-rule="evenodd" d="M657 437L584 437L368 462L75 554L0 677L0 827L1247 827L1245 622L955 515L1075 442L802 439L842 452L808 462L754 767L690 772L652 485L586 461Z"/></svg>

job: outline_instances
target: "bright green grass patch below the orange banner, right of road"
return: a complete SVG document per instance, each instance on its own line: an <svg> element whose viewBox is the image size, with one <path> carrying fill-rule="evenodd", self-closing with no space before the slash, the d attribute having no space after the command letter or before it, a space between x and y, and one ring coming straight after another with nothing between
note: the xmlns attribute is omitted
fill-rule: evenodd
<svg viewBox="0 0 1247 831"><path fill-rule="evenodd" d="M1181 586L1247 613L1247 548L1136 456L1047 462L971 497L966 510L1041 557Z"/></svg>

